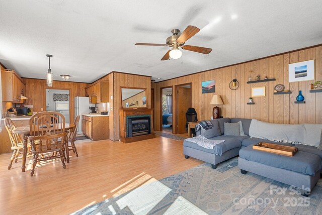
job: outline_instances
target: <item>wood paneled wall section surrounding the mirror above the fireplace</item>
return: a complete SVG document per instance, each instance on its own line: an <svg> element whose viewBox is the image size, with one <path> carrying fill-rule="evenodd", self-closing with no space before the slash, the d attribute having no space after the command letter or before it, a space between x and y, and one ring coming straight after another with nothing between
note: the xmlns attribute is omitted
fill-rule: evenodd
<svg viewBox="0 0 322 215"><path fill-rule="evenodd" d="M101 80L109 80L109 101L110 101L110 139L118 141L120 139L120 117L121 110L121 87L146 88L147 107L151 107L151 78L148 76L112 72ZM113 99L111 99L111 96Z"/></svg>

